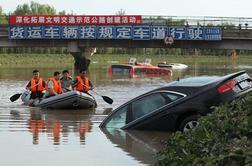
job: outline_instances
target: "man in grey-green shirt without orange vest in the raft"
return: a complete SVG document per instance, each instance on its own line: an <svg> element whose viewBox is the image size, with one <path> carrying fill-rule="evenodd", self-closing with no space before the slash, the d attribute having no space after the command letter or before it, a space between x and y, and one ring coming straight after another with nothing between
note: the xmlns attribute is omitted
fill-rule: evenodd
<svg viewBox="0 0 252 166"><path fill-rule="evenodd" d="M70 76L68 70L62 71L62 77L60 78L61 86L63 92L68 92L73 90L72 84L73 84L73 78Z"/></svg>

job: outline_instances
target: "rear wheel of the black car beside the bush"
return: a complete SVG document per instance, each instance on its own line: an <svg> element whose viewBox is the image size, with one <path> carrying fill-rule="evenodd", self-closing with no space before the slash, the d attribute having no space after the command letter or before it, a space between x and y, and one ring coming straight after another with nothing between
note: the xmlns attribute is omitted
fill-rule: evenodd
<svg viewBox="0 0 252 166"><path fill-rule="evenodd" d="M179 130L183 132L187 132L198 126L198 115L190 115L181 121L179 125Z"/></svg>

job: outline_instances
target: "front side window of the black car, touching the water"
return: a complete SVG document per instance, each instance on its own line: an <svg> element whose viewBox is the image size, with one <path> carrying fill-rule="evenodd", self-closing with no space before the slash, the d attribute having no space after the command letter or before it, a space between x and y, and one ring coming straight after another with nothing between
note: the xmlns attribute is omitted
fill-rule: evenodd
<svg viewBox="0 0 252 166"><path fill-rule="evenodd" d="M126 124L128 106L125 106L111 115L110 120L107 122L107 128L121 128Z"/></svg>

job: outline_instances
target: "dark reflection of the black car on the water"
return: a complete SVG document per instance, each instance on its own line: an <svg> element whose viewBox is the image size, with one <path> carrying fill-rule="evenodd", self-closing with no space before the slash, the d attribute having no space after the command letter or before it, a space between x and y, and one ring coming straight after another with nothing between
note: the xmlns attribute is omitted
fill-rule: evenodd
<svg viewBox="0 0 252 166"><path fill-rule="evenodd" d="M155 155L164 146L170 135L168 132L122 131L119 129L101 129L107 138L127 152L128 155L144 164L155 164Z"/></svg>

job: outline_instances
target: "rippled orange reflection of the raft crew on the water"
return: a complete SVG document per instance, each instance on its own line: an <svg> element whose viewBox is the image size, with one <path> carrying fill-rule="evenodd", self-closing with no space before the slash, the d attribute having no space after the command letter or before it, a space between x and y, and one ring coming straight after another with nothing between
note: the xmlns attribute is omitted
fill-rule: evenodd
<svg viewBox="0 0 252 166"><path fill-rule="evenodd" d="M75 110L68 110L67 112L31 110L27 127L29 132L32 133L33 144L39 144L39 135L43 133L47 134L54 145L59 145L61 141L66 143L70 132L77 133L80 144L85 144L85 135L92 129L90 121L92 112L94 110L85 110L84 113Z"/></svg>

